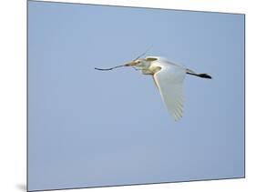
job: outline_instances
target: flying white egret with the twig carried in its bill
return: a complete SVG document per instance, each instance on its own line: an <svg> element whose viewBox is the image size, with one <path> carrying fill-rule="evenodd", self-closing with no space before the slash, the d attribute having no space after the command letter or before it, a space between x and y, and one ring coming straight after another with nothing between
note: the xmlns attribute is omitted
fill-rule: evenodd
<svg viewBox="0 0 256 192"><path fill-rule="evenodd" d="M140 70L143 75L153 77L155 85L158 87L160 96L169 109L169 114L175 121L183 114L183 81L186 74L211 78L208 74L197 74L185 66L180 66L170 62L168 59L159 56L147 56L146 58L136 58L122 66L132 66ZM112 68L96 68L97 70L112 70Z"/></svg>

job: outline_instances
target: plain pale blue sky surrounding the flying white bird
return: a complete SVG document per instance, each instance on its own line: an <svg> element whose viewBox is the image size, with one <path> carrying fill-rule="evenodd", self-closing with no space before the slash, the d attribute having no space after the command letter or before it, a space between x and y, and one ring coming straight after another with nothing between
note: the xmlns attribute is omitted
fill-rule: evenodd
<svg viewBox="0 0 256 192"><path fill-rule="evenodd" d="M29 2L28 189L244 177L243 15ZM187 76L175 122L143 53Z"/></svg>

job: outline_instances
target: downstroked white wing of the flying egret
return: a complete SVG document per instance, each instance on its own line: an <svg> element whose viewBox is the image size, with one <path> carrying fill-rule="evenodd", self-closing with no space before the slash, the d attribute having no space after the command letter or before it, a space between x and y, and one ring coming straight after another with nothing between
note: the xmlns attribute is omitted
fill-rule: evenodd
<svg viewBox="0 0 256 192"><path fill-rule="evenodd" d="M154 80L169 113L177 121L183 114L183 80L186 71L179 66L164 66L154 74Z"/></svg>

